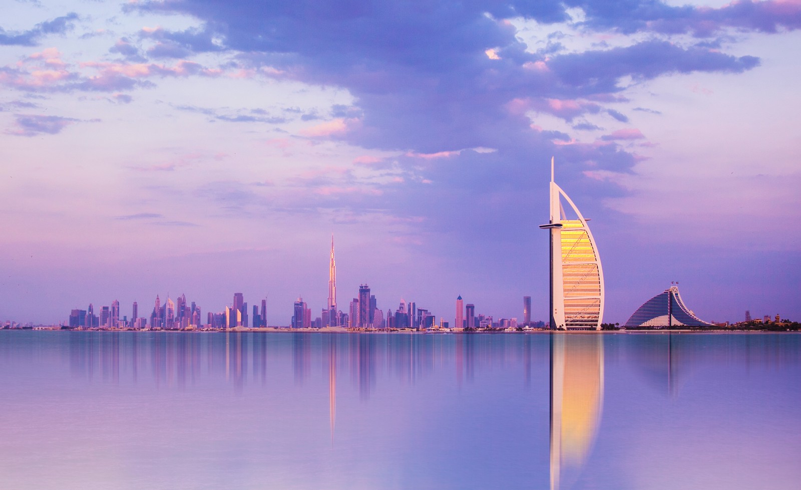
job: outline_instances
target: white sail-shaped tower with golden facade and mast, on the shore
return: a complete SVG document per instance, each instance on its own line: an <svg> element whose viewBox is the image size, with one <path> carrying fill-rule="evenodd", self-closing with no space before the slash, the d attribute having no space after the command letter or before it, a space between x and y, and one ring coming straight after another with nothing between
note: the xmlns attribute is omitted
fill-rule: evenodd
<svg viewBox="0 0 801 490"><path fill-rule="evenodd" d="M568 219L562 198L577 219ZM553 180L551 158L550 222L550 325L559 330L601 330L603 269L598 247L581 211Z"/></svg>

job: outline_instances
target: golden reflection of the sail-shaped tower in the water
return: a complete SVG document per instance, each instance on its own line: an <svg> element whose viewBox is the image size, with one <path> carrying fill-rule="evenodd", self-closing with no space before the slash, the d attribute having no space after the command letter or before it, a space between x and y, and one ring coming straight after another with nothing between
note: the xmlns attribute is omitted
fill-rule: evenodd
<svg viewBox="0 0 801 490"><path fill-rule="evenodd" d="M550 488L570 488L601 421L603 336L551 334Z"/></svg>

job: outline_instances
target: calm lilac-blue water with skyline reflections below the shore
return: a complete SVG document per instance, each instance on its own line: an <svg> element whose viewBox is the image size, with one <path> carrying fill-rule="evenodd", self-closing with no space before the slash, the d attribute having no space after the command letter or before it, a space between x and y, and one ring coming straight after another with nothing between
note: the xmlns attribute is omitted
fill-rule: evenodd
<svg viewBox="0 0 801 490"><path fill-rule="evenodd" d="M797 334L0 331L0 488L801 488Z"/></svg>

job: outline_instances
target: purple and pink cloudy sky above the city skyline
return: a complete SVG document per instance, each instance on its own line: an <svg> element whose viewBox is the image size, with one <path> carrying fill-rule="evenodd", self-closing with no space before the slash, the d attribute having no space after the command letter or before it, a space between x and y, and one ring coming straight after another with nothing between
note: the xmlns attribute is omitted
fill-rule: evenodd
<svg viewBox="0 0 801 490"><path fill-rule="evenodd" d="M0 6L0 320L243 292L288 325L360 284L548 314L550 158L605 322L679 281L801 318L801 2ZM312 315L316 316L316 315Z"/></svg>

